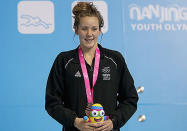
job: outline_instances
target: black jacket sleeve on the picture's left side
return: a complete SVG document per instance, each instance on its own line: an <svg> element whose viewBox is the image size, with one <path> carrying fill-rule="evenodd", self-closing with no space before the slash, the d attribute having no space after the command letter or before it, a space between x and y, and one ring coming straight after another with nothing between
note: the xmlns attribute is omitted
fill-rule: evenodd
<svg viewBox="0 0 187 131"><path fill-rule="evenodd" d="M56 58L46 86L45 109L48 114L63 126L73 126L77 117L76 113L63 104L64 99L64 77L63 64L59 56Z"/></svg>

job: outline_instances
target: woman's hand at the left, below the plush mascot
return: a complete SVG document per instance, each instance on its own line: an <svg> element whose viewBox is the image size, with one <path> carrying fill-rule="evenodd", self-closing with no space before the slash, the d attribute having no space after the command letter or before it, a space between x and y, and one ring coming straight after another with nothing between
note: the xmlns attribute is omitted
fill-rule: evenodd
<svg viewBox="0 0 187 131"><path fill-rule="evenodd" d="M83 118L76 118L74 121L74 126L80 131L94 131L96 128L96 123L85 122Z"/></svg>

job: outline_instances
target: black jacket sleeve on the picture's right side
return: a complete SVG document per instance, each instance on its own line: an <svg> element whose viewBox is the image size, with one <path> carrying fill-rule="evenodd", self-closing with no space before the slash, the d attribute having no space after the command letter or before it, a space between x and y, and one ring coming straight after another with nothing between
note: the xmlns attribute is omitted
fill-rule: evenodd
<svg viewBox="0 0 187 131"><path fill-rule="evenodd" d="M121 78L118 89L118 106L110 115L114 129L121 128L135 113L137 109L138 95L134 86L134 80L127 68L123 56L120 57Z"/></svg>

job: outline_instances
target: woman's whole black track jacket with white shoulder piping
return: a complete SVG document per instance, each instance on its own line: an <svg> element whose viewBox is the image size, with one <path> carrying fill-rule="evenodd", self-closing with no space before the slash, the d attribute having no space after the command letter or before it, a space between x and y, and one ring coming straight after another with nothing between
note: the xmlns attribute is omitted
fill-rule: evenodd
<svg viewBox="0 0 187 131"><path fill-rule="evenodd" d="M100 103L105 114L119 130L137 109L138 95L123 56L98 45L100 65L94 92L94 103ZM78 48L60 53L51 68L45 109L63 125L65 131L76 131L74 120L85 116L87 106L84 77Z"/></svg>

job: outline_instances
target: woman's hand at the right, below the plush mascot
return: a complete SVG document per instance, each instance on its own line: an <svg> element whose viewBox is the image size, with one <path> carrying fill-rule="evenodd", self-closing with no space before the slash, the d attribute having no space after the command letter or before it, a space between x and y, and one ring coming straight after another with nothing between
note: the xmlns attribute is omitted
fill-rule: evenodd
<svg viewBox="0 0 187 131"><path fill-rule="evenodd" d="M97 126L94 131L111 131L113 129L113 123L110 119L97 123L96 125Z"/></svg>

